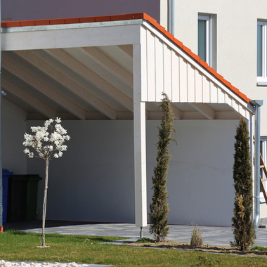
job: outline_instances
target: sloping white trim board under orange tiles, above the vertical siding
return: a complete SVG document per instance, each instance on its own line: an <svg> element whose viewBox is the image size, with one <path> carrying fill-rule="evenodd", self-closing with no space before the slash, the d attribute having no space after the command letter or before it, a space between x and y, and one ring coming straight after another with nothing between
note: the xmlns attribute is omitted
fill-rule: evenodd
<svg viewBox="0 0 267 267"><path fill-rule="evenodd" d="M173 41L170 41L162 32L159 32L155 27L152 27L149 22L144 21L143 22L144 27L147 27L148 30L150 30L153 34L155 34L159 39L161 39L167 46L169 46L171 49L176 51L179 55L181 55L185 60L187 60L191 65L193 65L197 70L202 72L208 79L211 80L216 86L218 86L220 89L225 91L230 98L233 98L237 103L242 105L249 113L252 113L253 115L255 114L255 108L247 103L245 100L242 100L239 96L237 96L233 91L231 91L227 86L225 86L221 81L216 79L214 75L212 75L208 70L206 70L202 65L199 63L195 62L193 58L191 58L188 53L185 53L180 47L178 47L176 44L174 44Z"/></svg>

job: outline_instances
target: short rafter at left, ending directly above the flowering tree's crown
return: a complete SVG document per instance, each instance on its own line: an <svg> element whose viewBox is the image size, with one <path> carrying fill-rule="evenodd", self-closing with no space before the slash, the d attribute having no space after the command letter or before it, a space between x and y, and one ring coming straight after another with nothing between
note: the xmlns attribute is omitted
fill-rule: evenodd
<svg viewBox="0 0 267 267"><path fill-rule="evenodd" d="M40 100L34 98L32 95L30 95L30 93L23 91L18 86L15 86L15 84L12 84L11 82L8 82L6 79L2 78L1 86L5 91L8 91L9 93L12 93L14 96L20 98L25 103L34 108L34 110L41 112L41 114L45 115L46 117L48 118L56 117L55 110L49 108L47 105L44 105L44 103L42 103Z"/></svg>

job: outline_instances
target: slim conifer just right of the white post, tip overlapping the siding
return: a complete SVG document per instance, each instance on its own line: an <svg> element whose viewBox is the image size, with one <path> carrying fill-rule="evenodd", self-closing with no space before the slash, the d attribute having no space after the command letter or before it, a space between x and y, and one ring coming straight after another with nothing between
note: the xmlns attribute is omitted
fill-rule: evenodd
<svg viewBox="0 0 267 267"><path fill-rule="evenodd" d="M169 204L167 204L167 171L169 169L169 143L171 140L171 132L174 129L174 116L171 109L171 102L168 96L163 93L162 103L162 122L161 129L159 129L159 141L157 142L157 167L154 169L154 176L152 177L152 203L150 203L150 233L154 235L155 241L159 242L167 237L169 232L168 227L168 211ZM176 142L176 141L175 141Z"/></svg>

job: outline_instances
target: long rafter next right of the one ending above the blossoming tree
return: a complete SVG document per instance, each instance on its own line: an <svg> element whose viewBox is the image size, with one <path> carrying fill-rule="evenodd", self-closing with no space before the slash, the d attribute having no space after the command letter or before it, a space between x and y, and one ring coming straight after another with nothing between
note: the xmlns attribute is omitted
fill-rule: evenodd
<svg viewBox="0 0 267 267"><path fill-rule="evenodd" d="M51 98L53 101L61 105L65 110L71 112L75 117L79 119L86 119L86 111L75 105L72 101L65 98L65 96L60 95L60 93L51 89L49 86L40 82L39 79L33 77L31 74L27 73L22 68L18 67L4 56L2 56L2 67L11 72L18 78L22 79L22 81L30 84L33 88L37 89L37 91L43 93L48 98Z"/></svg>

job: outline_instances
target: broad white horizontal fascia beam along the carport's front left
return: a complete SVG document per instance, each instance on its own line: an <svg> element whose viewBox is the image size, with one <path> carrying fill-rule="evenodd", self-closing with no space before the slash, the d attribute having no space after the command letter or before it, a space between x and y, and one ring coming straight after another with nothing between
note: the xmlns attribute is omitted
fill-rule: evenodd
<svg viewBox="0 0 267 267"><path fill-rule="evenodd" d="M140 44L141 21L9 27L1 33L1 46L2 51L16 51Z"/></svg>

